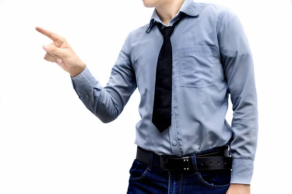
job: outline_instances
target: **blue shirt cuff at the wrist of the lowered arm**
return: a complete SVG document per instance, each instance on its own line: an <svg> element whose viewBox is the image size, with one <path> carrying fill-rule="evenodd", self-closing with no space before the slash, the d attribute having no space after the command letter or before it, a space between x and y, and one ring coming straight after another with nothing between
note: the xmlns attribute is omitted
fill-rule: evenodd
<svg viewBox="0 0 292 194"><path fill-rule="evenodd" d="M251 184L253 171L253 160L233 159L230 183Z"/></svg>

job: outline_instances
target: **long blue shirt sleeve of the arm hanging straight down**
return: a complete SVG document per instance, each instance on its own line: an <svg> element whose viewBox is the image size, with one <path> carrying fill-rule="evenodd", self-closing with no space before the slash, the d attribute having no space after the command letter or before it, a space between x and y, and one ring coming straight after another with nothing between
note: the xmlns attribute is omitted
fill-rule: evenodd
<svg viewBox="0 0 292 194"><path fill-rule="evenodd" d="M231 183L250 184L257 147L258 111L254 64L248 39L238 16L227 10L218 33L227 92L232 101L234 132Z"/></svg>

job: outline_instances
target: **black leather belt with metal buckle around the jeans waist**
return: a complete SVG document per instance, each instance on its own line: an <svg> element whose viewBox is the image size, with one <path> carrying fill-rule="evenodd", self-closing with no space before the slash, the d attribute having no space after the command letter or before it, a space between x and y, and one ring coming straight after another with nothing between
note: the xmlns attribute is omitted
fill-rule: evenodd
<svg viewBox="0 0 292 194"><path fill-rule="evenodd" d="M198 170L231 169L232 158L229 155L228 146L222 147L222 151L196 155ZM136 159L149 164L150 153L152 153L152 166L162 170L194 170L191 156L158 155L139 146L137 147Z"/></svg>

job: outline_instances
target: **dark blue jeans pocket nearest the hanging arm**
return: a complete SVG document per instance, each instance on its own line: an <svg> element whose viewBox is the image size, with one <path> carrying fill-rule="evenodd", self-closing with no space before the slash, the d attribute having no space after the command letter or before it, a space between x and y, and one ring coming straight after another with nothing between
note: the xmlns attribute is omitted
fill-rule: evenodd
<svg viewBox="0 0 292 194"><path fill-rule="evenodd" d="M200 181L208 187L222 188L230 185L230 169L205 170L200 171L197 175Z"/></svg>

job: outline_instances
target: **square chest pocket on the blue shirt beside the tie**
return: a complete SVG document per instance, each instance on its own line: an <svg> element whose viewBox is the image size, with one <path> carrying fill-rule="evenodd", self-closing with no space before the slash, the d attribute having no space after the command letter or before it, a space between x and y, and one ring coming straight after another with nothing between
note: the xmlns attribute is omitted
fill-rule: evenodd
<svg viewBox="0 0 292 194"><path fill-rule="evenodd" d="M215 85L215 49L211 46L178 49L181 86L203 88Z"/></svg>

